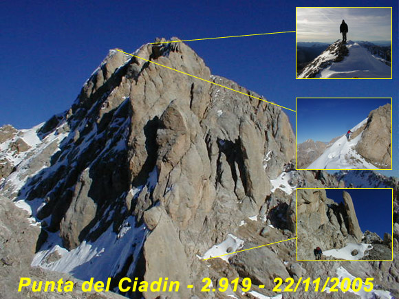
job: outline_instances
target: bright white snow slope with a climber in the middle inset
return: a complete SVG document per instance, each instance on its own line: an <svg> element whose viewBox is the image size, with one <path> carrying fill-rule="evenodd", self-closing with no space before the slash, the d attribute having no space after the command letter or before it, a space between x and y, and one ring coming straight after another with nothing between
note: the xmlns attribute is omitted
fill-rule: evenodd
<svg viewBox="0 0 399 299"><path fill-rule="evenodd" d="M354 126L351 131L356 131L366 122L367 118ZM354 149L361 137L362 134L360 133L354 140L347 141L346 136L343 135L327 148L316 161L310 164L308 169L375 169L376 166L367 162Z"/></svg>

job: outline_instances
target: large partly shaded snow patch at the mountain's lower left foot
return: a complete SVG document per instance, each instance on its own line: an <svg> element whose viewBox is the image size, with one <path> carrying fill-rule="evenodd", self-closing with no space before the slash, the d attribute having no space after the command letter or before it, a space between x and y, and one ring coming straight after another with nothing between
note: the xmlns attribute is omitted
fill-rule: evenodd
<svg viewBox="0 0 399 299"><path fill-rule="evenodd" d="M127 270L129 276L133 274L147 234L144 224L136 228L135 223L135 218L129 217L118 233L110 225L96 241L83 241L70 251L62 246L58 233L53 233L35 254L32 267L73 274L82 280L94 277L95 281L106 281L120 272L130 258L133 262Z"/></svg>

